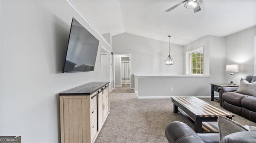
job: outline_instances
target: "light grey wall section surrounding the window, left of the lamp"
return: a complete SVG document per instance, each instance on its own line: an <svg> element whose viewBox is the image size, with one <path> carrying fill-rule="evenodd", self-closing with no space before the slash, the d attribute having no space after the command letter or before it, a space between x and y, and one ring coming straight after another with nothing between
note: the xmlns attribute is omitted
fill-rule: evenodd
<svg viewBox="0 0 256 143"><path fill-rule="evenodd" d="M206 36L184 46L184 74L186 51L204 47L204 75L211 75L211 83L225 81L225 37Z"/></svg>

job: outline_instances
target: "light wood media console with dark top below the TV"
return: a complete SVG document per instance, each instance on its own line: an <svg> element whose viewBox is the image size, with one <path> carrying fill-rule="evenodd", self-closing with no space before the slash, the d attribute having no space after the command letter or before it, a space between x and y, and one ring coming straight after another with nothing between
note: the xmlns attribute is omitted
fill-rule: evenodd
<svg viewBox="0 0 256 143"><path fill-rule="evenodd" d="M61 143L93 143L109 111L109 82L90 82L59 93Z"/></svg>

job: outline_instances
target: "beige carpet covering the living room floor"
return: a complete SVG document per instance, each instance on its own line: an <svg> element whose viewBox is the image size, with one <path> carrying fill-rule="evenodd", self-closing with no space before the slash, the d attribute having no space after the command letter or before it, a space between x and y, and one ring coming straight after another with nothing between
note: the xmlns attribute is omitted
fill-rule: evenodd
<svg viewBox="0 0 256 143"><path fill-rule="evenodd" d="M221 108L210 98L204 101ZM256 126L238 115L233 120ZM185 122L194 129L182 114L173 113L171 99L137 99L135 93L110 92L110 114L95 143L168 143L164 130L172 121Z"/></svg>

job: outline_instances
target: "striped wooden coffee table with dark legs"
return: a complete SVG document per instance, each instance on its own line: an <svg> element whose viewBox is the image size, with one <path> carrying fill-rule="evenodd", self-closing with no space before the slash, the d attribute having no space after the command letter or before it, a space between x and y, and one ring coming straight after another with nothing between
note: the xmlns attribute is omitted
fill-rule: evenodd
<svg viewBox="0 0 256 143"><path fill-rule="evenodd" d="M173 112L178 113L180 111L182 114L187 114L194 121L196 133L205 132L202 130L203 121L217 121L220 115L229 119L234 117L234 114L216 108L194 96L172 96L171 99L174 105ZM207 125L203 125L203 128ZM210 132L216 133L218 130Z"/></svg>

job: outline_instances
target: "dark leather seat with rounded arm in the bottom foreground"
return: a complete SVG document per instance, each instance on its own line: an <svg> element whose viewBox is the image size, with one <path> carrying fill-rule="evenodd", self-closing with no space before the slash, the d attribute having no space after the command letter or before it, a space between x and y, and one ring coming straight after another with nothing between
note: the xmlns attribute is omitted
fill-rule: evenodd
<svg viewBox="0 0 256 143"><path fill-rule="evenodd" d="M165 135L169 143L256 143L256 131L239 131L220 140L219 133L196 133L180 121L170 123Z"/></svg>

